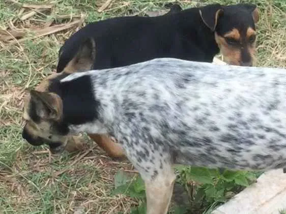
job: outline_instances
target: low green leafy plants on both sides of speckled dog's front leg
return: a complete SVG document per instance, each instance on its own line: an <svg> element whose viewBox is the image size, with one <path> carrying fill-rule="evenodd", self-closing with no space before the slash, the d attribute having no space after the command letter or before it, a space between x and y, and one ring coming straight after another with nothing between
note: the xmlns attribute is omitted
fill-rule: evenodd
<svg viewBox="0 0 286 214"><path fill-rule="evenodd" d="M218 169L185 166L177 166L176 170L179 173L178 182L187 190L190 183L195 184L190 194L189 207L201 209L204 213L209 213L208 210L214 209L249 186L261 174L231 170L220 173ZM112 191L112 195L116 194L139 200L139 206L131 208L131 214L146 213L145 185L140 176L130 178L123 171L118 171L115 175L115 189ZM179 205L171 210L174 214L185 214L188 208Z"/></svg>

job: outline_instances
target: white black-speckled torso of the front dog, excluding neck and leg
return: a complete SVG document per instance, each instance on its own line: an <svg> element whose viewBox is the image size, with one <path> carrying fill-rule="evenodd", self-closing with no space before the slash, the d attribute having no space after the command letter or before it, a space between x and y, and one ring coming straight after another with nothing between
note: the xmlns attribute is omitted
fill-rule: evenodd
<svg viewBox="0 0 286 214"><path fill-rule="evenodd" d="M207 167L286 164L284 69L154 59L86 74L126 150L167 146L176 163Z"/></svg>

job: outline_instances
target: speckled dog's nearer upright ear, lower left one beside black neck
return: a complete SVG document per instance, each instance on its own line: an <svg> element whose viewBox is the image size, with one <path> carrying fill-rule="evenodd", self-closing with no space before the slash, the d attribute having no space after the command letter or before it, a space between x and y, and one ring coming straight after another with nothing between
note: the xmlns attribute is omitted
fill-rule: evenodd
<svg viewBox="0 0 286 214"><path fill-rule="evenodd" d="M42 119L58 120L62 117L62 99L53 93L31 90L31 108Z"/></svg>

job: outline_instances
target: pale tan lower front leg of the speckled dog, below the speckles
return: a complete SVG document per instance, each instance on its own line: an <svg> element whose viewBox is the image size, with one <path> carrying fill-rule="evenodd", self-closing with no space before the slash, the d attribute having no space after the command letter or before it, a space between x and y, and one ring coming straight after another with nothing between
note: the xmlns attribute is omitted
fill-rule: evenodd
<svg viewBox="0 0 286 214"><path fill-rule="evenodd" d="M155 179L145 182L147 214L166 214L168 211L176 175L173 171L160 173Z"/></svg>

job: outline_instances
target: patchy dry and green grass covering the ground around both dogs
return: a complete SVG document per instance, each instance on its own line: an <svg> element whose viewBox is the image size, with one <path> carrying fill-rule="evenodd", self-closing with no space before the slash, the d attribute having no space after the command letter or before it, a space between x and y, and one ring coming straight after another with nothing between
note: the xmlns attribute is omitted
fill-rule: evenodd
<svg viewBox="0 0 286 214"><path fill-rule="evenodd" d="M52 9L21 20L31 11L23 10L22 4L49 2L0 1L0 27L4 30L0 32L0 213L76 213L77 209L87 213L129 213L130 207L141 203L137 198L111 195L119 170L130 176L136 172L127 161L115 162L106 157L93 142L89 143L90 150L55 157L46 147L33 148L21 138L25 93L55 71L58 50L77 26L38 38L29 33L22 42L16 39L7 42L1 37L8 27L33 30L44 28L50 20L53 20L52 25L68 23L81 14L86 15L85 23L122 15L144 15L147 11L161 10L164 4L173 1L117 0L98 12L104 2L55 0ZM184 8L206 4L179 2ZM213 2L238 1L207 1ZM286 67L286 2L250 2L259 5L261 14L257 65ZM56 176L59 172L61 174Z"/></svg>

